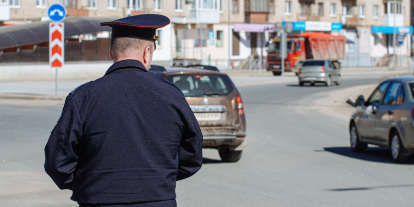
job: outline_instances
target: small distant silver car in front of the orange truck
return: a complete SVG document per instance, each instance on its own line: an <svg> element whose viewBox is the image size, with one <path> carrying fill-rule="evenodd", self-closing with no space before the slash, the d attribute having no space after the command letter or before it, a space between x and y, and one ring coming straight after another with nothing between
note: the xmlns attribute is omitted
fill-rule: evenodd
<svg viewBox="0 0 414 207"><path fill-rule="evenodd" d="M334 64L330 60L306 60L298 69L299 85L310 83L324 83L331 86L332 82L336 85L341 84L341 70L339 64Z"/></svg>

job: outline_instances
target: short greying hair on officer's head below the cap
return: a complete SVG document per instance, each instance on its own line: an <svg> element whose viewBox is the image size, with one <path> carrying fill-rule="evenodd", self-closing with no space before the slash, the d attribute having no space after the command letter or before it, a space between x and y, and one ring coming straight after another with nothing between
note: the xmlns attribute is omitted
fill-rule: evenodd
<svg viewBox="0 0 414 207"><path fill-rule="evenodd" d="M111 38L111 52L114 59L120 56L136 56L144 53L149 46L150 53L154 52L154 41L140 38Z"/></svg>

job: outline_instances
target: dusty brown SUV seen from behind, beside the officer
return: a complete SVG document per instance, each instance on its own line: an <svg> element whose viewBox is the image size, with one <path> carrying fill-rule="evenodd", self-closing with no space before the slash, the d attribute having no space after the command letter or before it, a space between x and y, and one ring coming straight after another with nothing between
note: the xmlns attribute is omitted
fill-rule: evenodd
<svg viewBox="0 0 414 207"><path fill-rule="evenodd" d="M224 162L236 162L246 146L241 96L230 78L218 71L168 69L167 80L181 89L203 133L203 148L218 149Z"/></svg>

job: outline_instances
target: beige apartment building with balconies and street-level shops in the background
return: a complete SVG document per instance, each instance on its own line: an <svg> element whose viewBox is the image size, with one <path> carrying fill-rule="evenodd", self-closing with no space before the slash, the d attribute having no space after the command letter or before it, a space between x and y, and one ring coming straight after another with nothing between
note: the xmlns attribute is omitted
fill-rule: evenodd
<svg viewBox="0 0 414 207"><path fill-rule="evenodd" d="M276 35L276 22L292 22L299 34L308 31L332 33L347 38L347 56L355 63L392 53L389 27L404 35L399 54L407 54L414 16L410 1L384 0L4 0L10 5L10 21L24 24L47 20L47 8L66 6L68 16L123 18L131 15L162 14L172 24L159 30L161 41L155 60L246 59L266 56L266 41ZM229 24L230 21L230 24ZM408 50L406 49L408 48ZM356 60L359 58L360 60ZM355 59L355 60L354 60ZM348 60L349 61L349 60Z"/></svg>

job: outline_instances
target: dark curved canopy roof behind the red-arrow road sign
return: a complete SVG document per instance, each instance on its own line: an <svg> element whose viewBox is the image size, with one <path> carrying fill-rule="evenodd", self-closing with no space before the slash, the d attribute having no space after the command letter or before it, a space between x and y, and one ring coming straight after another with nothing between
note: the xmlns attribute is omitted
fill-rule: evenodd
<svg viewBox="0 0 414 207"><path fill-rule="evenodd" d="M110 18L68 17L65 23L65 37L111 31L110 27L101 27L101 22L110 22ZM0 27L0 49L49 41L49 21L24 25Z"/></svg>

